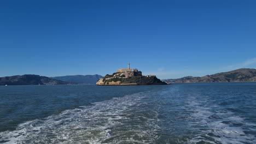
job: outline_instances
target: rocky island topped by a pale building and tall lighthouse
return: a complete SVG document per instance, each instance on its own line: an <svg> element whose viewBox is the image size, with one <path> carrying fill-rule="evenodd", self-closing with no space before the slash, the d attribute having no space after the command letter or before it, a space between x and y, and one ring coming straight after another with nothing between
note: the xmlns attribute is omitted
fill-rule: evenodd
<svg viewBox="0 0 256 144"><path fill-rule="evenodd" d="M155 75L143 76L138 69L131 69L130 63L128 68L118 69L112 75L106 75L96 83L98 86L129 86L129 85L167 85Z"/></svg>

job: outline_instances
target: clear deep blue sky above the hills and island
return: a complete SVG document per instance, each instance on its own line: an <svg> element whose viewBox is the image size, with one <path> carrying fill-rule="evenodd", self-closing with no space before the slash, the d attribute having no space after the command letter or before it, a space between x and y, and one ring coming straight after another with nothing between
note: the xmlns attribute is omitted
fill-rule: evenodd
<svg viewBox="0 0 256 144"><path fill-rule="evenodd" d="M0 76L256 68L256 1L0 1Z"/></svg>

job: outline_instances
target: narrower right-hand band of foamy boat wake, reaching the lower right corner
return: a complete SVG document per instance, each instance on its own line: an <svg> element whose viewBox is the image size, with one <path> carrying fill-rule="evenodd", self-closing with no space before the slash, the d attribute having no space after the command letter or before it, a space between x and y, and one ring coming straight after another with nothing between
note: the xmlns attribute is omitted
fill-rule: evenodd
<svg viewBox="0 0 256 144"><path fill-rule="evenodd" d="M193 111L188 119L195 134L188 143L256 143L256 137L247 131L256 131L256 125L248 123L228 109L219 109L207 97L191 101L184 109Z"/></svg>

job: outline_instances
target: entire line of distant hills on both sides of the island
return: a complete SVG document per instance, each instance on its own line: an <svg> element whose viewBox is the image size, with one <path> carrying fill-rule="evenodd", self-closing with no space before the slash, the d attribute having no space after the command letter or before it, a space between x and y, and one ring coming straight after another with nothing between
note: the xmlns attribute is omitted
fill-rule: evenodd
<svg viewBox="0 0 256 144"><path fill-rule="evenodd" d="M14 75L0 77L0 85L67 85L75 83L96 84L101 75L67 75L46 77L39 75ZM256 81L256 69L237 69L202 77L186 76L179 79L162 80L167 83L189 82L253 82Z"/></svg>

